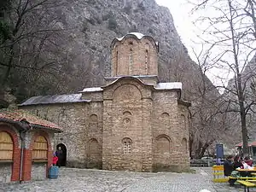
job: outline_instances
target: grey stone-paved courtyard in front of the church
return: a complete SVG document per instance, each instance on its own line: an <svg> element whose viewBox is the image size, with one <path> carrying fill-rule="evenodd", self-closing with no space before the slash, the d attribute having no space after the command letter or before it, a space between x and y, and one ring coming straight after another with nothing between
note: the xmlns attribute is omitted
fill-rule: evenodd
<svg viewBox="0 0 256 192"><path fill-rule="evenodd" d="M230 187L227 183L212 183L211 168L194 169L196 173L142 173L61 167L58 179L0 184L0 192L199 192L201 189L208 189L211 192L243 191L240 186Z"/></svg>

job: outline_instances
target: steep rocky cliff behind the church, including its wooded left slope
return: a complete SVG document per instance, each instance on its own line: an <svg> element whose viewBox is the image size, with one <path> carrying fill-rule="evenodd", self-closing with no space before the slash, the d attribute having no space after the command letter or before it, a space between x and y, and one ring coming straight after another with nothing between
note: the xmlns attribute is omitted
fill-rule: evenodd
<svg viewBox="0 0 256 192"><path fill-rule="evenodd" d="M46 2L50 1L55 3L53 0ZM218 119L213 119L214 123L205 121L208 120L207 113L214 113L209 101L219 96L218 90L190 59L167 8L154 0L62 0L58 5L49 6L47 3L45 6L26 12L25 25L20 26L20 31L13 31L16 37L22 32L33 35L33 38L23 36L25 40L19 40L19 49L13 49L14 52L17 50L13 65L24 65L22 70L13 67L6 85L10 94L18 98L16 102L30 96L74 93L84 87L101 86L103 78L110 75L109 46L113 38L120 38L128 32L141 32L160 44L160 81L182 82L183 99L195 106L191 111L193 118L199 119L200 113L205 115L192 126L190 147L199 140L201 142L195 147L198 150L212 144L216 139L212 137L212 129L218 126ZM18 21L13 17L14 24ZM32 31L37 28L39 31ZM46 31L49 28L59 33L49 33ZM41 31L48 33L42 34ZM39 38L34 38L34 33ZM26 54L28 50L30 54ZM38 65L43 65L42 70L34 70ZM41 73L49 67L46 73ZM203 151L198 153L203 154Z"/></svg>

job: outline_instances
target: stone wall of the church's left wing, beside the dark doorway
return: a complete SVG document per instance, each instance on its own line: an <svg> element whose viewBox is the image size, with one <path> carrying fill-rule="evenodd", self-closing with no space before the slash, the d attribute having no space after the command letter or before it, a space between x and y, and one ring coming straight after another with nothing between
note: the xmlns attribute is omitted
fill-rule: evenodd
<svg viewBox="0 0 256 192"><path fill-rule="evenodd" d="M79 102L23 107L63 129L55 134L67 146L67 166L102 167L102 102ZM90 153L92 152L92 154Z"/></svg>

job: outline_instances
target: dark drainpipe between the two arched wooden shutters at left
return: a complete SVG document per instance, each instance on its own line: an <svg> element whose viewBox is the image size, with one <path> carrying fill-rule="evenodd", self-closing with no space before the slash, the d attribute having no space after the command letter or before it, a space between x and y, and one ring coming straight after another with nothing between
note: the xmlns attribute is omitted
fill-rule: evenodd
<svg viewBox="0 0 256 192"><path fill-rule="evenodd" d="M26 121L26 119L22 119L20 121L20 126L22 130L20 131L20 141L21 141L21 146L20 146L20 184L23 181L22 179L22 171L23 171L23 164L24 164L24 148L25 148L25 138L26 138L26 132L32 129L32 125L29 124L29 122Z"/></svg>

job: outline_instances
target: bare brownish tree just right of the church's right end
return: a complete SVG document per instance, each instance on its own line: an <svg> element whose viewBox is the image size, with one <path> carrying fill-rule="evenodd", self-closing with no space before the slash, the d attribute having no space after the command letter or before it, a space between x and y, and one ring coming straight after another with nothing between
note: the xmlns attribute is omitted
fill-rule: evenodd
<svg viewBox="0 0 256 192"><path fill-rule="evenodd" d="M194 50L194 49L193 49ZM209 147L220 140L227 131L225 116L221 115L222 100L218 90L207 78L207 72L212 68L207 63L209 53L195 54L198 64L197 81L193 83L193 90L189 91L192 108L190 108L191 128L189 132L190 154L201 159ZM214 131L213 131L214 130Z"/></svg>

